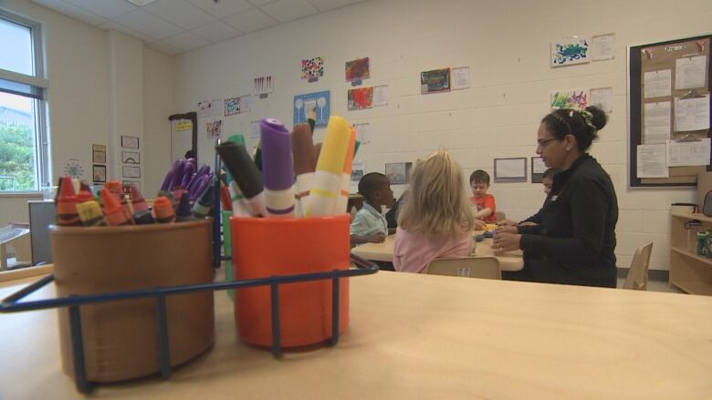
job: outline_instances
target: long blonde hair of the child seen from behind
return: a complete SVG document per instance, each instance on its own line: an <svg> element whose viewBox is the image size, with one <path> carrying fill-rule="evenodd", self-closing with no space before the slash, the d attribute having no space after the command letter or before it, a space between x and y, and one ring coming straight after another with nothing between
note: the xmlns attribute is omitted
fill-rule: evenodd
<svg viewBox="0 0 712 400"><path fill-rule="evenodd" d="M472 210L463 183L462 170L445 150L418 160L398 225L439 236L454 235L460 224L472 229Z"/></svg>

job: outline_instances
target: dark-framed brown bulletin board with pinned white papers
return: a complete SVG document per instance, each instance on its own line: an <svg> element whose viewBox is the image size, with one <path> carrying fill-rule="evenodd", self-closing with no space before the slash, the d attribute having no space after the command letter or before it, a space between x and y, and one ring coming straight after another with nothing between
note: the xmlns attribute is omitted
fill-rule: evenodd
<svg viewBox="0 0 712 400"><path fill-rule="evenodd" d="M638 177L638 163L641 161L638 159L639 145L663 144L665 140L671 144L700 143L699 139L710 137L712 118L709 115L712 113L708 109L707 128L677 130L683 124L679 123L682 119L676 118L683 116L683 106L688 106L690 102L699 104L706 101L704 97L712 97L709 86L712 75L709 58L711 42L712 35L706 35L628 48L628 167L631 187L695 186L697 173L711 170L712 160L707 160L707 166L669 167L669 177L666 178ZM680 100L684 101L681 103ZM669 116L665 117L668 109ZM681 113L679 116L678 112ZM668 120L669 137L665 138Z"/></svg>

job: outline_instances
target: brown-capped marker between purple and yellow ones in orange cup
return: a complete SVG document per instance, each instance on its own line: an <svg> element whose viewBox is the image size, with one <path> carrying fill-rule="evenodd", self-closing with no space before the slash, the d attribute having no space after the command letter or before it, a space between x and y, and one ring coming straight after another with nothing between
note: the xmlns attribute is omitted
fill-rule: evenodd
<svg viewBox="0 0 712 400"><path fill-rule="evenodd" d="M317 156L314 154L314 142L308 124L299 124L292 132L292 156L294 173L297 175L295 193L297 216L303 217L309 190L314 184L314 170L317 168Z"/></svg>

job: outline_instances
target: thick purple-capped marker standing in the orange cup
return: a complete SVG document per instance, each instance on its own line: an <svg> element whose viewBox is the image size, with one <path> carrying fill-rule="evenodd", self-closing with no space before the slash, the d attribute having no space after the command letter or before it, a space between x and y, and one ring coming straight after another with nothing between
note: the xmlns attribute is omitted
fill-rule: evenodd
<svg viewBox="0 0 712 400"><path fill-rule="evenodd" d="M265 179L265 207L269 218L294 217L294 167L289 131L275 118L259 121Z"/></svg>

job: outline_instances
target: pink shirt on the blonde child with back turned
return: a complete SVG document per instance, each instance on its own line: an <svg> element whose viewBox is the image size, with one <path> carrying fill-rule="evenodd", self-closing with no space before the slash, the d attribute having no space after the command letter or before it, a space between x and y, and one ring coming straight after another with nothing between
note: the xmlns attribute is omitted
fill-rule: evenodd
<svg viewBox="0 0 712 400"><path fill-rule="evenodd" d="M393 268L400 272L423 272L435 258L467 257L472 252L472 231L462 231L455 238L428 236L422 232L395 231Z"/></svg>

